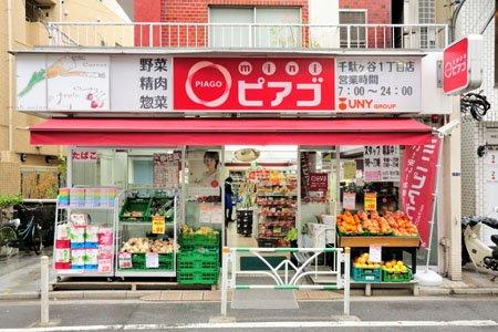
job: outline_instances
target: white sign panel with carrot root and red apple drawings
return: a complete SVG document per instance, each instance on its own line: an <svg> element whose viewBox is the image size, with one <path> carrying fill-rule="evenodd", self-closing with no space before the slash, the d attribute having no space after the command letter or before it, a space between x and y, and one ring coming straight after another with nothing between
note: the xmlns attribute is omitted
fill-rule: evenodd
<svg viewBox="0 0 498 332"><path fill-rule="evenodd" d="M108 111L108 66L105 55L49 55L48 108Z"/></svg>

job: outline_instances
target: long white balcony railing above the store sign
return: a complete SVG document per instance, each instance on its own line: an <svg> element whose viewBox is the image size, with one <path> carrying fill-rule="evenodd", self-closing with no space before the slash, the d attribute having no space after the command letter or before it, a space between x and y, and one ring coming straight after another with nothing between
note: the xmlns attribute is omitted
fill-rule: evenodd
<svg viewBox="0 0 498 332"><path fill-rule="evenodd" d="M446 24L56 22L48 32L52 46L87 48L437 50L448 44Z"/></svg>

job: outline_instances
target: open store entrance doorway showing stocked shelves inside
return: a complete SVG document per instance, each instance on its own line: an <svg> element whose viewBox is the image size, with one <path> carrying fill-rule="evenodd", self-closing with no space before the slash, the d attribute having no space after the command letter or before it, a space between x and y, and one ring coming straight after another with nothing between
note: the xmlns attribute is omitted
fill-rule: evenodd
<svg viewBox="0 0 498 332"><path fill-rule="evenodd" d="M298 146L225 146L228 247L297 247Z"/></svg>

